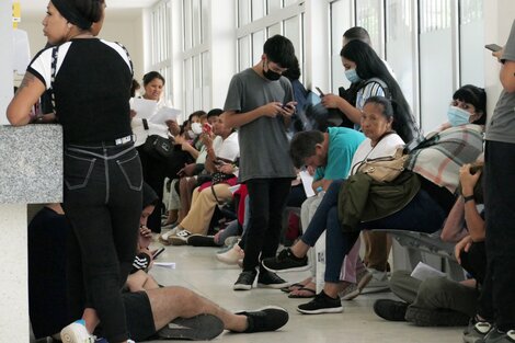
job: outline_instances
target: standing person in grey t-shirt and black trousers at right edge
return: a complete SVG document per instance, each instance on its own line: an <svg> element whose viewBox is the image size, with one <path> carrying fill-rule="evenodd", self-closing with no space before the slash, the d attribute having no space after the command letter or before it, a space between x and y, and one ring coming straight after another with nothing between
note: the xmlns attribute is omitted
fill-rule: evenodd
<svg viewBox="0 0 515 343"><path fill-rule="evenodd" d="M487 275L476 329L489 331L481 342L515 342L515 21L500 61L503 91L487 127L484 213ZM470 327L469 327L470 328ZM464 336L465 339L465 336ZM468 341L467 341L468 342Z"/></svg>

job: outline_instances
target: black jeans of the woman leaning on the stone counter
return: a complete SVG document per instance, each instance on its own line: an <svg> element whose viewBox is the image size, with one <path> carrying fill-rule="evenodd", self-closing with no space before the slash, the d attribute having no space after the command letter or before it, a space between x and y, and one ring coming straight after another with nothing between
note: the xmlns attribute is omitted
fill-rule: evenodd
<svg viewBox="0 0 515 343"><path fill-rule="evenodd" d="M121 288L136 253L141 163L133 144L65 147L64 208L70 316L96 310L106 339L128 339Z"/></svg>

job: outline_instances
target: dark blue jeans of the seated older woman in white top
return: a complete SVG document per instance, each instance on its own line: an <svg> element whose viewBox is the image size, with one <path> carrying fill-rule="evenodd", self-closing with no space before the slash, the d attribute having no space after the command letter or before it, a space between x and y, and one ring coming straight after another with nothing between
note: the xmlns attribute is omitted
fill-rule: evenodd
<svg viewBox="0 0 515 343"><path fill-rule="evenodd" d="M343 180L333 181L301 240L313 247L327 228L325 236L325 282L340 282L340 271L345 255L359 237L359 230L396 229L432 233L440 229L447 214L424 191L401 210L385 218L362 222L356 232L344 232L337 217L337 195Z"/></svg>

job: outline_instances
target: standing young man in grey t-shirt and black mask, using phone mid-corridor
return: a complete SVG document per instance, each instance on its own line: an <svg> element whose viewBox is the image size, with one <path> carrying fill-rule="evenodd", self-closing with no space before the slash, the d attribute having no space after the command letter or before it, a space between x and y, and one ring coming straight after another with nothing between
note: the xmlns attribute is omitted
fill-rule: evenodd
<svg viewBox="0 0 515 343"><path fill-rule="evenodd" d="M233 289L249 290L261 259L277 252L284 208L295 170L288 156L286 128L295 112L291 84L281 75L293 66L289 39L275 35L263 46L261 60L232 77L224 106L227 125L239 127L240 182L250 197L250 221L244 238L243 271ZM259 287L287 283L260 267Z"/></svg>

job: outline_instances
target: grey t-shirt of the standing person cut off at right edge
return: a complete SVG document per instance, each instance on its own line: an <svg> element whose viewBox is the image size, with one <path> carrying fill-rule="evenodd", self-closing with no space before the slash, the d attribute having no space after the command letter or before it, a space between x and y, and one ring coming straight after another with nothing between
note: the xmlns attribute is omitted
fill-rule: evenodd
<svg viewBox="0 0 515 343"><path fill-rule="evenodd" d="M502 59L515 61L515 21L512 24ZM515 144L515 93L502 91L493 116L487 126L487 140Z"/></svg>

